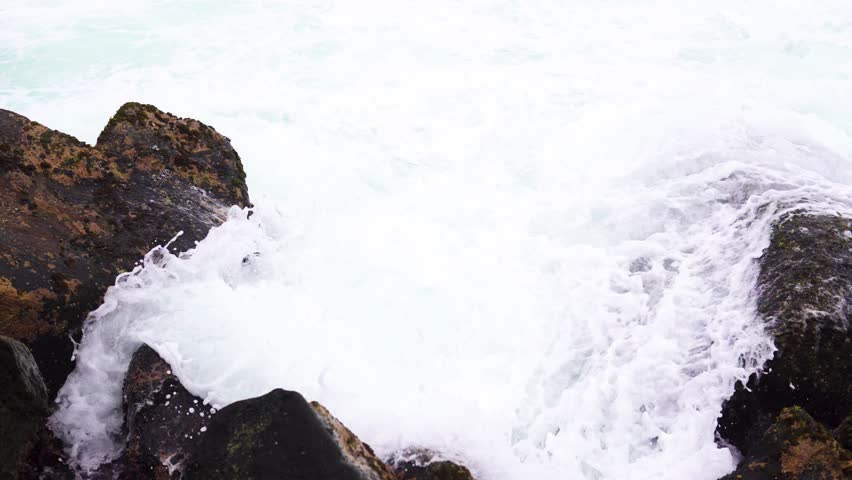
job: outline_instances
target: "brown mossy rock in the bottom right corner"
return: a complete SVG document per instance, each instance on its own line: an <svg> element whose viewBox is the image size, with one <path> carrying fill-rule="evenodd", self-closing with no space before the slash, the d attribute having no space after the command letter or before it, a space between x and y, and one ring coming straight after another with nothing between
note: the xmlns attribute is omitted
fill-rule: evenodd
<svg viewBox="0 0 852 480"><path fill-rule="evenodd" d="M852 453L802 408L781 411L739 468L722 480L843 480L852 478Z"/></svg>

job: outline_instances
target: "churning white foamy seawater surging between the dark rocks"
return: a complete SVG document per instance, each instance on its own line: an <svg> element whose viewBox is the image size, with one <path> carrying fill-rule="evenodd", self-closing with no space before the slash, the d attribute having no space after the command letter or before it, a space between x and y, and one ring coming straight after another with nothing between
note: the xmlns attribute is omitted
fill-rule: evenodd
<svg viewBox="0 0 852 480"><path fill-rule="evenodd" d="M118 3L0 6L0 106L199 118L257 207L90 317L74 462L118 453L144 342L213 404L298 390L483 480L732 469L771 221L852 206L848 2Z"/></svg>

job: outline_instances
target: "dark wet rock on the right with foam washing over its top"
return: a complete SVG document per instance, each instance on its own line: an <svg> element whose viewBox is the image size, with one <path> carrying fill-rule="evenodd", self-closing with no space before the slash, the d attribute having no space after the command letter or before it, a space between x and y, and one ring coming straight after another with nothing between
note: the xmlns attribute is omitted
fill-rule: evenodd
<svg viewBox="0 0 852 480"><path fill-rule="evenodd" d="M757 308L778 351L738 383L718 433L751 456L777 415L799 405L836 428L852 413L852 222L797 212L773 228L760 258Z"/></svg>

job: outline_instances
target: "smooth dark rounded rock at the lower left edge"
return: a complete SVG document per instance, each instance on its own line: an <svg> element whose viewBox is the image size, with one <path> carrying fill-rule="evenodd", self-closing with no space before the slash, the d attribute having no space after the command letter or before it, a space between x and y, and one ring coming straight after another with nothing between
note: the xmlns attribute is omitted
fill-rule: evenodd
<svg viewBox="0 0 852 480"><path fill-rule="evenodd" d="M25 345L0 336L0 480L23 477L47 416L47 388Z"/></svg>

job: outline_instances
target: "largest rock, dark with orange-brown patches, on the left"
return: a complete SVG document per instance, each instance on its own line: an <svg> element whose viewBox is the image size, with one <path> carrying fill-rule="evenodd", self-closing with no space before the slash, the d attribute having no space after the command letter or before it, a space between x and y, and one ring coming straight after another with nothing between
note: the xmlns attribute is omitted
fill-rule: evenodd
<svg viewBox="0 0 852 480"><path fill-rule="evenodd" d="M192 248L233 204L249 205L239 156L200 122L128 103L91 147L0 110L0 334L55 395L116 275L179 231Z"/></svg>

